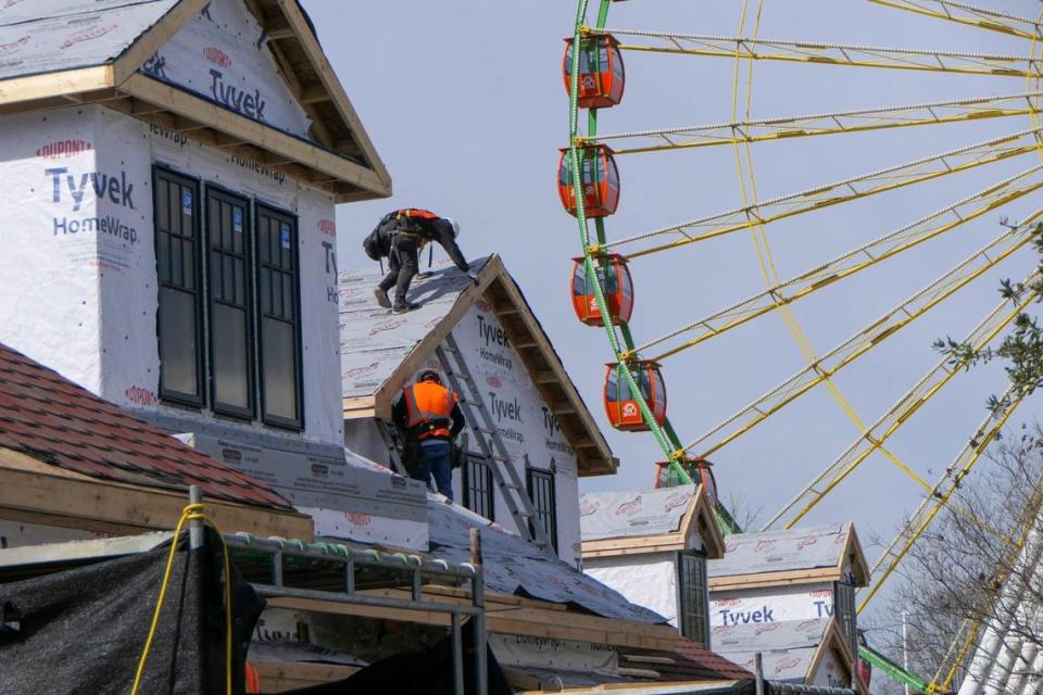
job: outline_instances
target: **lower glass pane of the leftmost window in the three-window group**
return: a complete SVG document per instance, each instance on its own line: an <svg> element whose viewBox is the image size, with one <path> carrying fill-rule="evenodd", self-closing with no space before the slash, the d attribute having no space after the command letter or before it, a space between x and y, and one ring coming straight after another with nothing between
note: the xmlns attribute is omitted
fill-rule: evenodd
<svg viewBox="0 0 1043 695"><path fill-rule="evenodd" d="M196 298L160 289L160 386L163 391L198 396L196 378Z"/></svg>

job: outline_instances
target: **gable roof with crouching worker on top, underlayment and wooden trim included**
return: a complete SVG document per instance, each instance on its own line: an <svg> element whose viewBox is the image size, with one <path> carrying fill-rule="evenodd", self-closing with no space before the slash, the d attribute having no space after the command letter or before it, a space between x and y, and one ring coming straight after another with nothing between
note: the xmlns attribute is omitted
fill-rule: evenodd
<svg viewBox="0 0 1043 695"><path fill-rule="evenodd" d="M579 475L616 472L619 462L500 256L480 258L472 267L478 274L478 287L455 266L415 280L410 298L423 306L399 316L374 302L373 288L381 277L375 265L340 274L344 419L390 419L392 401L414 372L435 355L467 311L483 302L503 326L546 407L557 416L562 433L576 451Z"/></svg>

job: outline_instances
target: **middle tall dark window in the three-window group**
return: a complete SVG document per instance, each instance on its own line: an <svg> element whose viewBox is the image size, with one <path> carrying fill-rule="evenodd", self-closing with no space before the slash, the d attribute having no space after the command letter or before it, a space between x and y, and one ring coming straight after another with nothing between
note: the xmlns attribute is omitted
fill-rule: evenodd
<svg viewBox="0 0 1043 695"><path fill-rule="evenodd" d="M206 191L211 399L215 413L252 418L250 220L244 199Z"/></svg>

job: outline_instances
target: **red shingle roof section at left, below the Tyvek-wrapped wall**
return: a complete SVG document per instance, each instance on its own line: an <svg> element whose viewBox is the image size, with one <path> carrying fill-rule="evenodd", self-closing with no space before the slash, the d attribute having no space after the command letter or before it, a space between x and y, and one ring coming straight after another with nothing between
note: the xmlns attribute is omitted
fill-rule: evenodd
<svg viewBox="0 0 1043 695"><path fill-rule="evenodd" d="M257 480L204 456L0 343L0 446L93 478L199 485L210 497L292 508Z"/></svg>

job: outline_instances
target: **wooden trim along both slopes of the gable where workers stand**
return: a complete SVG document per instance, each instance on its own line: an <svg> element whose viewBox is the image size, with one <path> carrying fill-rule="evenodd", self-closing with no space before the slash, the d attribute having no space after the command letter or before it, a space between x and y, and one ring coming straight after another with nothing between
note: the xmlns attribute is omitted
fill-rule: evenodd
<svg viewBox="0 0 1043 695"><path fill-rule="evenodd" d="M532 314L532 309L525 301L522 290L518 289L518 286L507 273L499 255L492 255L481 268L478 273L478 287L468 287L460 294L449 313L420 342L413 346L406 358L394 368L372 396L343 400L344 418L378 417L385 420L391 419L391 404L398 397L399 392L413 374L419 369L424 361L435 354L435 350L445 340L467 311L479 299L486 298L488 301L491 292L502 292L507 300L506 306L511 312L508 315L512 317L512 325L520 327L519 330L525 333L527 339L532 341L536 348L539 348L539 350L527 351L525 355L519 354L529 377L536 382L541 374L554 376L553 382L544 381L542 384L537 382L537 389L551 412L555 415L561 413L558 419L562 422L562 432L576 452L579 476L615 473L619 466L618 459L612 455L612 450L608 448L604 434L601 433L596 422L594 422L593 416L587 409L579 392L576 390L576 386L557 358L550 339L543 332ZM504 311L504 305L495 300L489 302L489 304L493 313L500 317L501 311ZM506 330L506 326L504 328ZM512 336L511 339L514 342L515 337ZM533 366L532 361L540 361L541 364ZM549 384L560 388L564 392L565 400L552 399L553 394L549 393Z"/></svg>

